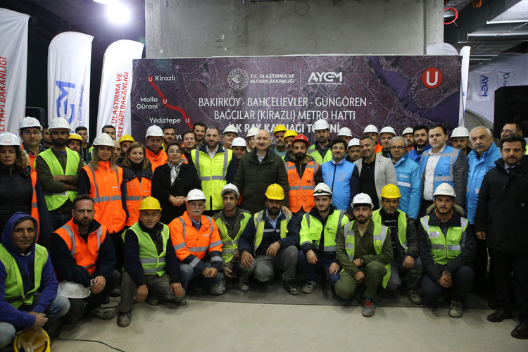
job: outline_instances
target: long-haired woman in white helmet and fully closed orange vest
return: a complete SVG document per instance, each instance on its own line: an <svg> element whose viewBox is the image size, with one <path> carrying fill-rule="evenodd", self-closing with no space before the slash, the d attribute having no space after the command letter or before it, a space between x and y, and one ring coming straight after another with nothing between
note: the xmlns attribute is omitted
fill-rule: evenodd
<svg viewBox="0 0 528 352"><path fill-rule="evenodd" d="M84 166L79 174L79 194L89 194L94 199L94 220L108 229L117 257L115 270L120 272L123 259L121 232L128 218L127 183L123 182L122 168L115 165L112 137L99 134L92 145L92 163Z"/></svg>

